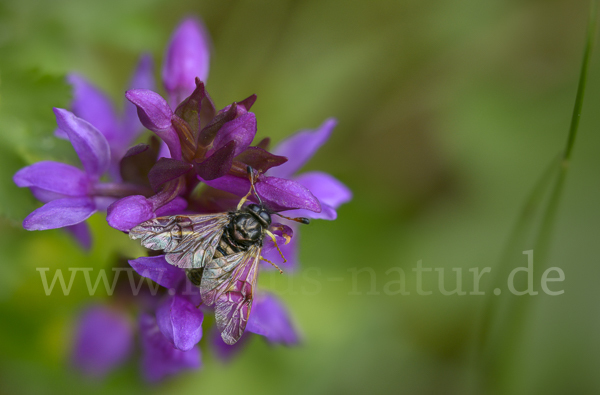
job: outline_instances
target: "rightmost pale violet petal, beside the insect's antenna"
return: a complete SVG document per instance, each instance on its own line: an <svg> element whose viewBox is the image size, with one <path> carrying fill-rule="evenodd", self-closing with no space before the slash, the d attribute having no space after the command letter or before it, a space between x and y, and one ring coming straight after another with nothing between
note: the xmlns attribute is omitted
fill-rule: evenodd
<svg viewBox="0 0 600 395"><path fill-rule="evenodd" d="M336 209L352 199L352 191L327 173L318 171L303 173L294 180L308 188L319 199L322 210L320 213L293 210L286 213L288 216L334 220L337 218Z"/></svg>

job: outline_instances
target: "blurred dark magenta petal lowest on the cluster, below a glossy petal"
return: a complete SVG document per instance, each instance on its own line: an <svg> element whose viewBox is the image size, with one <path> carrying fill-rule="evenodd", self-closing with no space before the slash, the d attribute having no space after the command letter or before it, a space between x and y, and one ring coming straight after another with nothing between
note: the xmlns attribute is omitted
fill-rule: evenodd
<svg viewBox="0 0 600 395"><path fill-rule="evenodd" d="M184 370L198 369L200 349L181 351L173 347L149 314L140 317L142 369L146 380L156 382Z"/></svg>

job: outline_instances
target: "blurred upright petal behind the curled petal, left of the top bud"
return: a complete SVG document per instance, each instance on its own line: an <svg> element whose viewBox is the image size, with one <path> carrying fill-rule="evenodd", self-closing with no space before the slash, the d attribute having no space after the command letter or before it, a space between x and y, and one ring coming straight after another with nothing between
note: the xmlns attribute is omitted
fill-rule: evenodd
<svg viewBox="0 0 600 395"><path fill-rule="evenodd" d="M154 82L154 62L148 54L140 57L129 89L155 89ZM137 107L133 103L125 103L125 114L123 119L123 140L131 143L135 137L143 130L142 124L137 115Z"/></svg>

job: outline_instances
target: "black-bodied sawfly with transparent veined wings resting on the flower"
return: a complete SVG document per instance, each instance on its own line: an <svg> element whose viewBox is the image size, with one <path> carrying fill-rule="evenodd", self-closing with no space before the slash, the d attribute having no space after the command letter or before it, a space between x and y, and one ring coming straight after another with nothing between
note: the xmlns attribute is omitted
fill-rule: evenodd
<svg viewBox="0 0 600 395"><path fill-rule="evenodd" d="M307 218L284 217L265 207L254 187L256 173L250 166L247 170L250 191L235 211L158 217L129 232L131 239L140 239L148 249L162 250L168 263L186 270L189 280L200 288L202 303L214 305L217 328L230 345L240 339L248 323L259 261L269 262L282 272L261 256L265 237L279 250L269 230L271 215L309 223ZM252 193L259 204L244 206ZM289 236L286 238L289 241Z"/></svg>

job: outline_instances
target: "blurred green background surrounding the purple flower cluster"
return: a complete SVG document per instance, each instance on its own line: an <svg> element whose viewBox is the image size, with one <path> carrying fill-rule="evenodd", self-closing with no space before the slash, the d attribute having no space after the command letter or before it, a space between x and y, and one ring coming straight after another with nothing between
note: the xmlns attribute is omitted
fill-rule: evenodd
<svg viewBox="0 0 600 395"><path fill-rule="evenodd" d="M417 295L411 271L418 260L445 268L452 289L451 269L462 268L466 291L469 268L495 272L522 203L564 146L588 5L0 1L0 393L599 393L598 53L544 263L564 271L565 281L551 286L564 294L496 297L522 305L523 314L494 311L500 335L479 353L486 297ZM208 89L217 106L258 95L259 138L279 141L329 116L339 120L304 170L330 172L354 199L336 221L302 230L297 273L261 275L260 285L288 303L302 346L255 337L223 364L203 339L201 371L149 386L133 358L89 381L69 365L72 325L106 297L88 296L77 281L69 296L45 296L35 269L110 268L117 254L142 250L101 214L91 221L90 253L60 230L24 231L37 203L12 175L42 159L77 163L52 135L51 107L70 98L67 72L82 73L120 105L138 56L154 56L158 77L169 36L187 15L203 18L213 39ZM533 245L521 240L519 248ZM509 270L526 265L514 256ZM353 282L353 270L364 267L373 269L375 292L369 273ZM398 278L392 268L407 273L410 295L386 294ZM437 275L425 273L425 289L437 289ZM481 289L491 287L484 276Z"/></svg>

